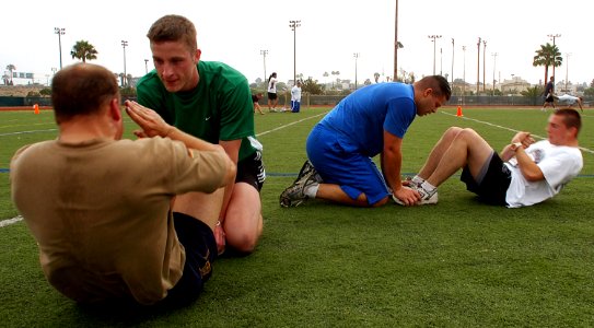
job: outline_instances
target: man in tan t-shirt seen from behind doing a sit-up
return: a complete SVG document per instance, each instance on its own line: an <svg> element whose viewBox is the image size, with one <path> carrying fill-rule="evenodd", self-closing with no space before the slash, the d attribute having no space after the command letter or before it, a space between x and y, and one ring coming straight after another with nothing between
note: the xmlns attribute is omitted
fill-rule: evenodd
<svg viewBox="0 0 594 328"><path fill-rule="evenodd" d="M135 133L151 138L121 140L117 82L103 67L67 67L51 89L58 139L20 149L10 173L49 283L83 303L194 300L217 256L217 210L233 162L132 102ZM196 215L184 201L193 191L219 196L212 214Z"/></svg>

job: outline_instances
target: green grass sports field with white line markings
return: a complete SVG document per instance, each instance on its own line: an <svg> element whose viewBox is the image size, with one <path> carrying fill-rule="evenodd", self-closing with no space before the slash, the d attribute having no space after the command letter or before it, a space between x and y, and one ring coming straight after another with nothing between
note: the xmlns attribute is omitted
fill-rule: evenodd
<svg viewBox="0 0 594 328"><path fill-rule="evenodd" d="M417 118L404 141L416 173L450 126L471 127L502 149L514 130L545 138L539 109L449 107ZM584 168L555 199L522 209L477 202L457 176L440 203L357 209L278 196L305 161L311 128L329 108L256 115L268 178L256 251L222 258L188 307L88 308L53 290L24 222L0 226L4 327L589 327L594 325L594 110L580 134ZM133 125L127 120L127 138ZM9 162L57 136L51 112L0 112L0 221L18 216ZM538 138L537 138L538 139Z"/></svg>

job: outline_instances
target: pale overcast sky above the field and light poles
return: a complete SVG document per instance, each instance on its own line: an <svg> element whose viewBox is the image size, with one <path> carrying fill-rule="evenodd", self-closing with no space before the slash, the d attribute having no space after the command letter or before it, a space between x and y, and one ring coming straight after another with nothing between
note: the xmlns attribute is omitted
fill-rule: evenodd
<svg viewBox="0 0 594 328"><path fill-rule="evenodd" d="M324 82L324 72L339 71L340 79L354 80L356 58L359 83L373 81L373 73L394 71L395 0L144 0L98 2L22 0L0 4L0 68L14 65L19 72L33 72L45 83L51 68L59 68L58 35L62 27L62 63L78 40L88 40L98 51L92 62L124 72L127 40L127 73L144 74L144 59L151 59L145 37L150 25L165 14L182 14L198 30L202 60L226 62L243 72L249 82L278 73L280 81L293 78L293 32L296 28L296 73ZM89 9L89 7L93 7ZM556 69L557 81L573 83L594 79L593 43L585 38L594 5L589 1L567 0L399 0L398 68L420 78L433 73L433 43L429 35L441 35L435 43L435 70L445 75L476 83L477 61L482 81L509 80L512 74L531 82L544 80L544 68L532 66L535 50L560 35L556 45L566 62ZM478 37L487 40L477 58ZM454 48L452 47L454 38ZM466 46L466 51L463 51ZM497 52L497 56L493 54ZM465 60L464 60L465 59ZM148 63L149 70L152 61ZM464 73L465 72L465 73ZM549 73L550 74L550 73ZM267 77L266 77L267 78ZM334 79L333 79L334 78ZM328 80L335 80L330 75ZM451 80L451 77L449 78Z"/></svg>

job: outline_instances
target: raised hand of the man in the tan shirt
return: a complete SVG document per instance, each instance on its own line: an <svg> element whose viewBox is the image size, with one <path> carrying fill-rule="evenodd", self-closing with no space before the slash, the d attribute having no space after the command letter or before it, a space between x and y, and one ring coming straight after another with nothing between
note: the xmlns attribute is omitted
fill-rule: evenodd
<svg viewBox="0 0 594 328"><path fill-rule="evenodd" d="M131 101L126 101L124 105L126 106L128 116L142 129L142 131L135 131L135 134L139 138L167 137L175 129L151 108Z"/></svg>

